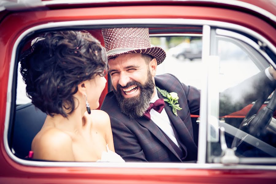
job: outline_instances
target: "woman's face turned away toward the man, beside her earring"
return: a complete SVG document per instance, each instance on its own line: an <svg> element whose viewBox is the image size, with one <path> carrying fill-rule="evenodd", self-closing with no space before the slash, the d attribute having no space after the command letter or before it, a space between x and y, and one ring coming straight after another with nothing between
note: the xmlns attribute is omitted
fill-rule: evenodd
<svg viewBox="0 0 276 184"><path fill-rule="evenodd" d="M90 109L97 109L99 107L99 98L102 91L105 89L106 79L100 75L96 75L94 79L88 81L87 100L90 104Z"/></svg>

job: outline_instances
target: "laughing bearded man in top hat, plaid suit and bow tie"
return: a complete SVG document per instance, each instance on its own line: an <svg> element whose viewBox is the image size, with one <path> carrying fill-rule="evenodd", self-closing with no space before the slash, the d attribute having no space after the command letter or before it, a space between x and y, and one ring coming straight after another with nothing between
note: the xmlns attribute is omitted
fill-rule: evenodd
<svg viewBox="0 0 276 184"><path fill-rule="evenodd" d="M166 53L160 47L150 46L148 28L102 29L102 34L113 91L106 95L101 109L110 116L115 151L126 161L196 160L190 114L199 115L200 91L182 84L173 75L155 76ZM261 85L272 86L264 95L275 89L276 82L264 72L255 78L264 81L255 84L258 89L264 87ZM247 83L253 85L254 80ZM172 93L164 97L162 94L166 92L162 90L178 96ZM231 98L232 90L227 91L220 95ZM239 108L257 98L257 94L251 93L244 89L243 94L249 98L239 100ZM175 102L174 110L171 102ZM233 110L236 109L229 107L225 111Z"/></svg>

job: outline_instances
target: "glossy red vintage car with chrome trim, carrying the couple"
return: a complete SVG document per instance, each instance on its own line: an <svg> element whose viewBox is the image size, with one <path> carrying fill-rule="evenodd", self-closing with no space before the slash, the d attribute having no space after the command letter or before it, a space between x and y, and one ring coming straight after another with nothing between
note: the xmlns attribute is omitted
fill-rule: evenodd
<svg viewBox="0 0 276 184"><path fill-rule="evenodd" d="M148 27L151 44L167 51L158 74L172 73L201 89L200 116L191 115L197 163L26 158L46 115L25 95L18 72L21 52L52 30L86 30L104 45L101 29L110 27ZM220 91L270 66L276 68L274 0L4 0L0 35L0 183L276 182L275 93L262 93L243 109L219 116L219 107L235 100L223 101ZM201 59L183 62L172 56L169 48L191 40L202 40ZM106 79L100 104L112 89L108 75ZM243 90L255 89L245 82ZM261 116L262 112L268 115Z"/></svg>

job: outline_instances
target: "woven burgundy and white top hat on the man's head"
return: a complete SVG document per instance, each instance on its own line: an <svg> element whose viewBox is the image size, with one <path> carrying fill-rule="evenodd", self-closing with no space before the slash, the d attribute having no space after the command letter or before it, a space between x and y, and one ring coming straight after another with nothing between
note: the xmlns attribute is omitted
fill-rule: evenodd
<svg viewBox="0 0 276 184"><path fill-rule="evenodd" d="M111 59L126 53L142 53L151 55L160 64L166 58L166 52L161 47L151 47L148 28L106 28L102 35Z"/></svg>

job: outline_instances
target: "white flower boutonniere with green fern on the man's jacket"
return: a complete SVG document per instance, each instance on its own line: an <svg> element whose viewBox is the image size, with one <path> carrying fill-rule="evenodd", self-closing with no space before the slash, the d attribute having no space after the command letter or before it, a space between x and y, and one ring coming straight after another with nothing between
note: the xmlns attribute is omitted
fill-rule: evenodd
<svg viewBox="0 0 276 184"><path fill-rule="evenodd" d="M173 110L173 113L175 116L177 116L176 110L181 110L182 108L179 107L178 103L178 95L175 92L168 93L166 90L161 90L159 87L157 87L157 90L164 96L167 97L167 99L164 99L165 102L168 102Z"/></svg>

